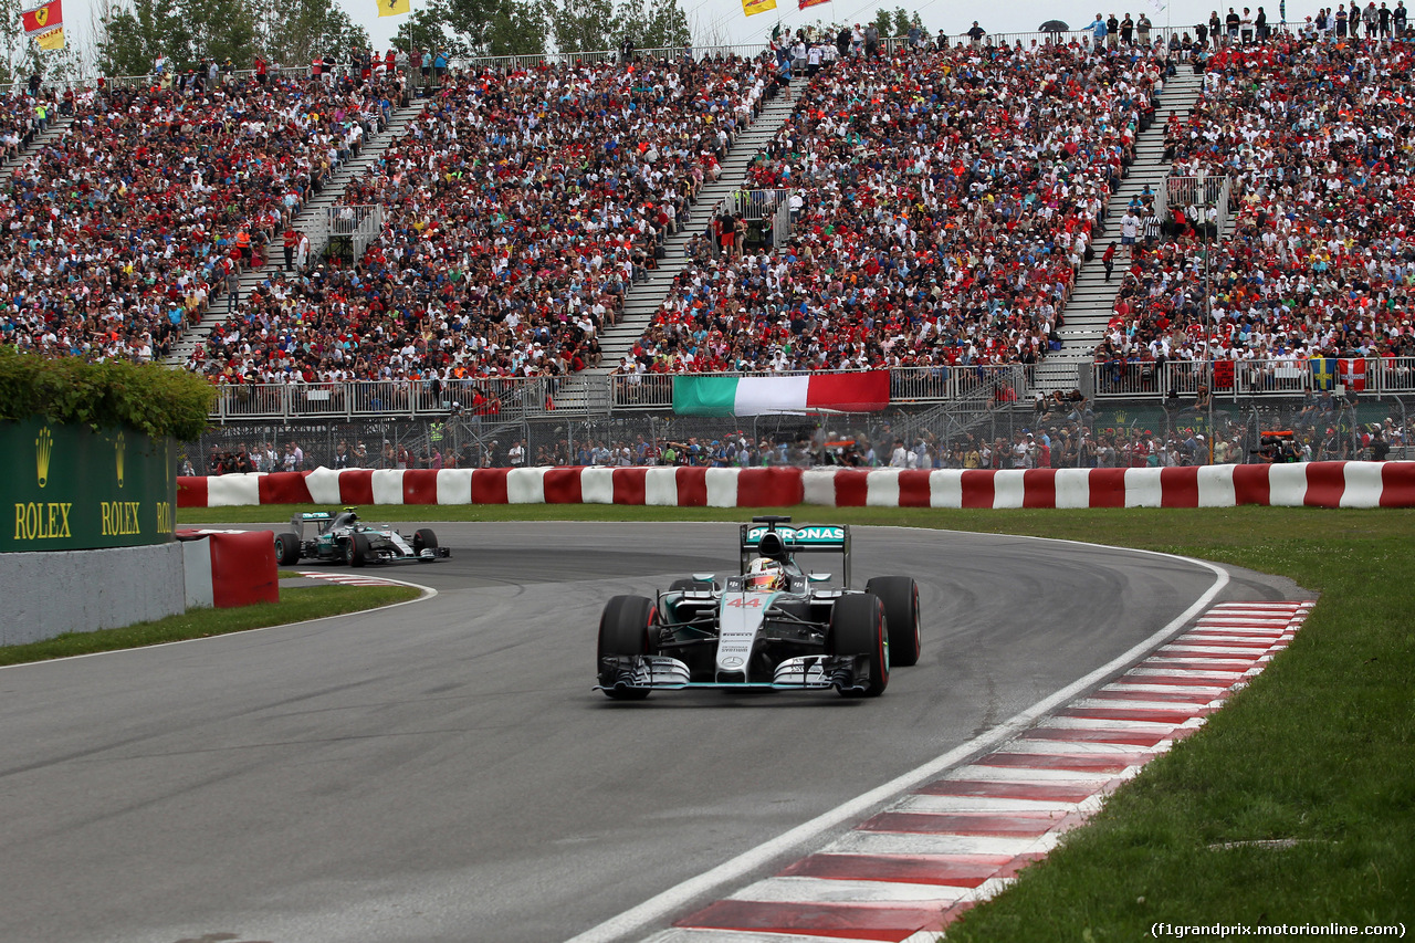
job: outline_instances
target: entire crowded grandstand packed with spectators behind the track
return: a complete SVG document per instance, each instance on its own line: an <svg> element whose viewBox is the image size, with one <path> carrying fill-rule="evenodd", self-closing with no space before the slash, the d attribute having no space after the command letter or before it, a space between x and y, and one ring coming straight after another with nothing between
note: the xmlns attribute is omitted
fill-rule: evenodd
<svg viewBox="0 0 1415 943"><path fill-rule="evenodd" d="M1034 405L1002 438L911 429L896 447L876 425L836 459L1060 467L1261 455L1247 430L1190 404L1204 423L1180 428L1170 402L1162 432L1101 432L1094 396L1173 399L1176 364L1193 367L1183 392L1197 387L1200 402L1240 378L1306 394L1285 423L1307 433L1300 457L1401 447L1404 408L1390 428L1326 433L1351 432L1356 413L1340 396L1319 408L1330 392L1307 370L1336 358L1343 379L1360 375L1348 392L1399 391L1415 355L1404 6L1343 13L1296 25L1215 14L1167 30L1097 17L1073 33L916 28L883 41L801 30L754 54L470 59L430 78L392 54L362 71L212 64L122 88L35 76L0 99L0 331L45 355L166 360L224 388L432 391L413 399L490 423L508 384L548 379L536 396L549 408L590 372L640 391L703 372L1032 368L1067 343L1082 269L1104 265L1114 296L1087 395L993 384L990 406ZM1176 106L1166 88L1182 72L1201 88ZM724 180L781 96L790 116L753 144L740 180ZM311 198L409 109L338 185L341 204L379 208L381 234L352 259L311 252ZM1223 205L1194 198L1201 185L1116 205L1152 125L1170 177L1224 180ZM719 183L780 201L784 238L749 231L741 202L700 198ZM675 273L661 302L630 317L627 300L661 268ZM174 355L198 326L191 353ZM606 357L614 327L637 340ZM375 406L395 399L379 396ZM807 460L758 439L698 450L652 436L642 447L565 440L526 460ZM372 452L366 463L386 460ZM816 443L814 460L826 452ZM481 442L454 460L502 459Z"/></svg>

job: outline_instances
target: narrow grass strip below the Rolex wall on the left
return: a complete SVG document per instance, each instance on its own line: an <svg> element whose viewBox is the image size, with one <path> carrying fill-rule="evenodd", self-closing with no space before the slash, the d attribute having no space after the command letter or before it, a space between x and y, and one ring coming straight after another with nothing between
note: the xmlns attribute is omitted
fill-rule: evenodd
<svg viewBox="0 0 1415 943"><path fill-rule="evenodd" d="M408 599L420 590L412 586L307 586L282 589L280 602L242 606L239 609L192 609L180 616L154 622L140 622L125 629L99 631L69 631L45 641L0 647L0 665L27 661L68 658L96 651L140 648L166 641L185 641L224 636L231 631L282 626L306 619L340 616L364 609L376 609Z"/></svg>

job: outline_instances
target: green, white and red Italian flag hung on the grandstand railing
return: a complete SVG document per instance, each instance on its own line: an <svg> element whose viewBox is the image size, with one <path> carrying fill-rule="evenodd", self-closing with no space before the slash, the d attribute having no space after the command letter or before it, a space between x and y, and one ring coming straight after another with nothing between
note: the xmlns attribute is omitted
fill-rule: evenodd
<svg viewBox="0 0 1415 943"><path fill-rule="evenodd" d="M681 416L760 416L780 412L879 412L889 405L889 371L807 377L674 377Z"/></svg>

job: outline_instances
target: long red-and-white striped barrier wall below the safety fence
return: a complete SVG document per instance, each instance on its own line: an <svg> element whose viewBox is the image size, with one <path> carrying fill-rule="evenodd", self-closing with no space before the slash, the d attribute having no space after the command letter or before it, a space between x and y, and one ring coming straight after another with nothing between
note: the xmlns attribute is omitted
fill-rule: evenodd
<svg viewBox="0 0 1415 943"><path fill-rule="evenodd" d="M178 507L648 504L661 507L1415 507L1415 462L1184 469L317 469L180 477Z"/></svg>

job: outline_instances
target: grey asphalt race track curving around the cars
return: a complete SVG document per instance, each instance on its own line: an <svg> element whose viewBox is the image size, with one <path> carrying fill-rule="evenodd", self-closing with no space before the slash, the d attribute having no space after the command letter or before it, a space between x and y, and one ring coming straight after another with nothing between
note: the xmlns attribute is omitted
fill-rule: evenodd
<svg viewBox="0 0 1415 943"><path fill-rule="evenodd" d="M450 561L366 571L430 600L0 670L0 940L565 940L1006 721L1214 583L857 528L856 586L913 575L925 610L882 698L614 704L590 690L604 602L734 569L734 525L436 530ZM1220 599L1295 595L1237 572Z"/></svg>

